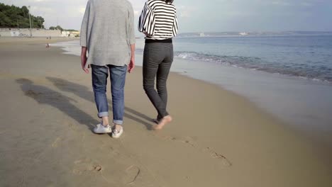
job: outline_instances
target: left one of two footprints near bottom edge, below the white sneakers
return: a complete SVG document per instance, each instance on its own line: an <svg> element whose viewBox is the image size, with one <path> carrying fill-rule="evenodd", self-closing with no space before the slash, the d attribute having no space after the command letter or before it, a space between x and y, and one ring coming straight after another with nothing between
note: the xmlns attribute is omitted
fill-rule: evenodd
<svg viewBox="0 0 332 187"><path fill-rule="evenodd" d="M79 159L74 162L74 169L72 170L72 172L74 174L81 175L91 172L99 172L101 170L101 165L92 162L91 159Z"/></svg>

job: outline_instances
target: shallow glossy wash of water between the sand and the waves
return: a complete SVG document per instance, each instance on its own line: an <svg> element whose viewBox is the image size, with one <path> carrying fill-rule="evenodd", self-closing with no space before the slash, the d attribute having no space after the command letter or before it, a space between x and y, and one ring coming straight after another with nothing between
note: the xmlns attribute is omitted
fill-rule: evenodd
<svg viewBox="0 0 332 187"><path fill-rule="evenodd" d="M80 54L80 48L73 42L59 42L55 46L62 47L65 54ZM139 40L138 48L142 46L142 40ZM142 59L142 54L136 53L136 66L142 66ZM330 84L179 57L175 57L171 72L245 97L261 111L270 113L292 129L332 146L329 133L332 117L325 112L332 110L332 100L328 99L332 96Z"/></svg>

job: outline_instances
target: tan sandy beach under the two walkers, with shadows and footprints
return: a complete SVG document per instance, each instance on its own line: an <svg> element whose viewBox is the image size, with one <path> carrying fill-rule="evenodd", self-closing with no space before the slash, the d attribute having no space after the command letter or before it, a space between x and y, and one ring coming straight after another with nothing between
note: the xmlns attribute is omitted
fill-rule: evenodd
<svg viewBox="0 0 332 187"><path fill-rule="evenodd" d="M176 73L164 130L151 130L155 109L135 67L123 136L95 135L91 74L47 41L0 38L0 186L332 186L331 145Z"/></svg>

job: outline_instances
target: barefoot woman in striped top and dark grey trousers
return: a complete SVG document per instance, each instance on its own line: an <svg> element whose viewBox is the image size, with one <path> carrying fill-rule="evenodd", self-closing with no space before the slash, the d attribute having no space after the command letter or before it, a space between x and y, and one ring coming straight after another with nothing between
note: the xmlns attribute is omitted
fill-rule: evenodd
<svg viewBox="0 0 332 187"><path fill-rule="evenodd" d="M148 0L138 23L138 30L145 34L143 55L143 87L157 110L155 130L170 123L167 112L167 77L173 62L172 38L177 35L176 8L173 0ZM157 77L157 91L155 90Z"/></svg>

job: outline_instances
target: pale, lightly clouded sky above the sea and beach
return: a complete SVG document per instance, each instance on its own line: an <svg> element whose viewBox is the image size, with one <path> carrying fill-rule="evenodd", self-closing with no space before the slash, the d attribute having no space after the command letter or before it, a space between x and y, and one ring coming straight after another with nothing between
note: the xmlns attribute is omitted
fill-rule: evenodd
<svg viewBox="0 0 332 187"><path fill-rule="evenodd" d="M111 1L111 0L110 0ZM135 23L146 0L133 4ZM87 0L0 0L31 6L45 28L79 30ZM332 0L175 0L179 32L332 31Z"/></svg>

